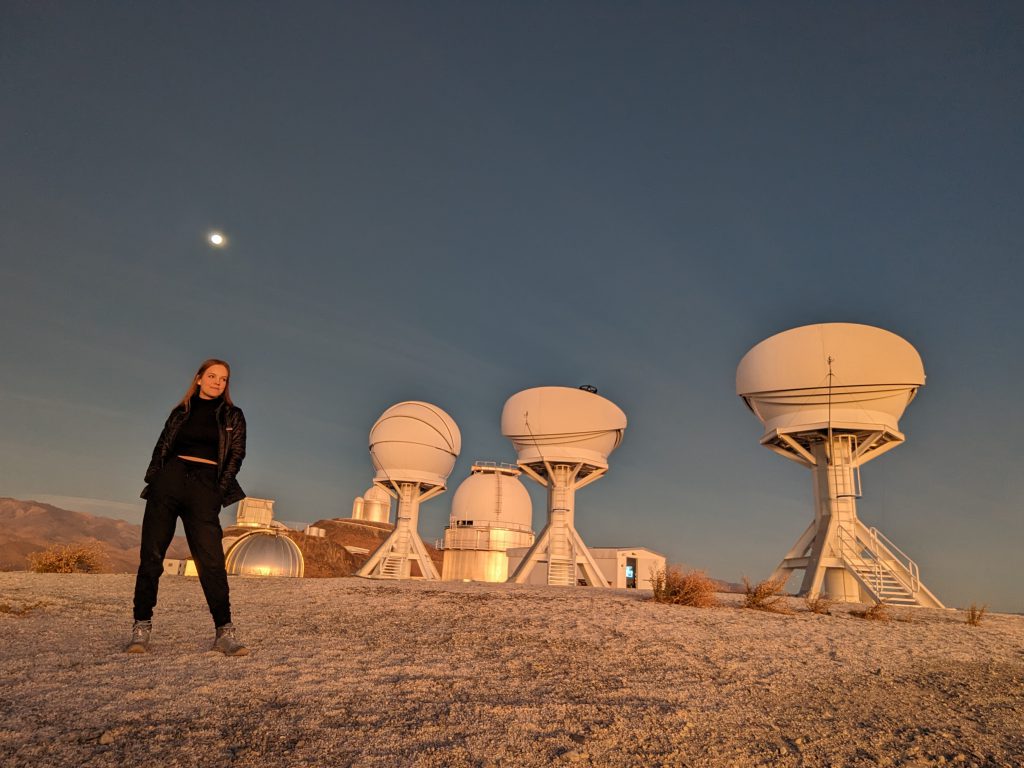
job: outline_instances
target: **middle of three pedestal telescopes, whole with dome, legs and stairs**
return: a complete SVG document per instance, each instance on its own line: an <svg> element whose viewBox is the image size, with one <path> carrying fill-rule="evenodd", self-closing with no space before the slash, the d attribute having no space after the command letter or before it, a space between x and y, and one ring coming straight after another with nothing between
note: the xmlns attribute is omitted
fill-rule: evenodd
<svg viewBox="0 0 1024 768"><path fill-rule="evenodd" d="M543 564L549 585L607 587L575 529L575 492L608 471L625 431L622 409L589 389L535 387L505 402L502 434L522 471L548 488L548 522L510 582L526 583Z"/></svg>

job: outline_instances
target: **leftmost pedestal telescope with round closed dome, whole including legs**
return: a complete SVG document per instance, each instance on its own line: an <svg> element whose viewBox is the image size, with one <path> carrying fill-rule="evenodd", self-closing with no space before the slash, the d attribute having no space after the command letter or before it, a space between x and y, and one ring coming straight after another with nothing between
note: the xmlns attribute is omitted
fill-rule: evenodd
<svg viewBox="0 0 1024 768"><path fill-rule="evenodd" d="M370 430L374 485L397 499L398 509L394 530L356 575L440 578L417 530L420 504L444 493L461 449L459 427L437 406L408 400L381 415Z"/></svg>

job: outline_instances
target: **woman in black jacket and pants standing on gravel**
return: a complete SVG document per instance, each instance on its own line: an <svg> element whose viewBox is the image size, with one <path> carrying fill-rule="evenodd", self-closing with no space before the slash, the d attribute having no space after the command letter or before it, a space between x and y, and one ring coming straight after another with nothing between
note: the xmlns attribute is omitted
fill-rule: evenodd
<svg viewBox="0 0 1024 768"><path fill-rule="evenodd" d="M231 369L224 360L204 361L185 396L171 411L153 451L142 490L145 516L129 653L150 649L157 586L179 517L213 614L213 650L229 656L249 652L231 626L221 545L220 508L245 498L234 476L246 455L246 420L231 402L230 377Z"/></svg>

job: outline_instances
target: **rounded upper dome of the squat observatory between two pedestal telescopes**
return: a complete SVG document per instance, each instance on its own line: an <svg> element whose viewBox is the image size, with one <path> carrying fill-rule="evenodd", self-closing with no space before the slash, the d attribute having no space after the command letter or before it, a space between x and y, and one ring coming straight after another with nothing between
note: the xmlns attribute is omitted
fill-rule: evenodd
<svg viewBox="0 0 1024 768"><path fill-rule="evenodd" d="M473 474L462 481L452 498L453 525L461 522L529 528L532 519L529 493L511 472L474 466Z"/></svg>

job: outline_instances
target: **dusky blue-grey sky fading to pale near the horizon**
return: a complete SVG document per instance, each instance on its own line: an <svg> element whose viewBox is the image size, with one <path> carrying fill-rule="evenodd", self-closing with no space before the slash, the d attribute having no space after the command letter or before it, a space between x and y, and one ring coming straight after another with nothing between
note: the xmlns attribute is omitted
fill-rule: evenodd
<svg viewBox="0 0 1024 768"><path fill-rule="evenodd" d="M350 514L393 402L459 423L454 489L510 394L588 383L630 425L585 541L757 580L813 502L736 364L866 323L928 385L860 517L1024 611L1019 2L5 2L0 168L0 496L138 520L208 356L292 521Z"/></svg>

